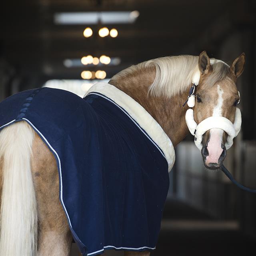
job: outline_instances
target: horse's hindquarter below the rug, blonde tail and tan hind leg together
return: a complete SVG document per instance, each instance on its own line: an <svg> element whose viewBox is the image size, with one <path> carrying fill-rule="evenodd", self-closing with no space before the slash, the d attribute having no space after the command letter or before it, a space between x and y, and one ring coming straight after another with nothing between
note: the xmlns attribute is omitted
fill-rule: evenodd
<svg viewBox="0 0 256 256"><path fill-rule="evenodd" d="M69 255L72 236L59 201L56 160L24 121L0 132L0 193L0 255Z"/></svg>

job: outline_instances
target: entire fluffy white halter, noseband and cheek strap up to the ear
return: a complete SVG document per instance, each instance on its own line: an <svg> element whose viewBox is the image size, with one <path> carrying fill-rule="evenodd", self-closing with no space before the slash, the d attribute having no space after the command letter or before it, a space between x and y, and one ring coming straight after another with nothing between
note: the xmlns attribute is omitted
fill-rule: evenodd
<svg viewBox="0 0 256 256"><path fill-rule="evenodd" d="M183 106L188 104L190 107L186 112L186 123L190 133L194 136L194 142L199 150L202 149L202 139L206 131L212 128L219 128L224 130L227 134L226 149L230 148L233 144L233 139L238 135L241 129L242 118L239 108L236 108L236 116L234 124L224 116L210 116L199 124L194 120L194 110L192 109L195 106L195 94L196 88L200 80L200 71L197 70L192 78L192 87L188 94L188 100L183 104ZM240 93L238 92L239 96Z"/></svg>

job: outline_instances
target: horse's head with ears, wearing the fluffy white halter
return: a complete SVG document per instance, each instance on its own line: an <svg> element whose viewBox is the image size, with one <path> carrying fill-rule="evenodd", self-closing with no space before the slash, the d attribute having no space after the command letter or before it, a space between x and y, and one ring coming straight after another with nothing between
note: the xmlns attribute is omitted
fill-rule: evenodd
<svg viewBox="0 0 256 256"><path fill-rule="evenodd" d="M232 146L233 138L240 131L241 113L237 108L240 93L236 80L242 74L244 64L244 53L231 66L210 59L205 51L199 56L200 73L195 75L196 90L191 95L190 107L194 110L187 111L186 121L190 132L194 132L195 144L201 150L206 168L220 168L226 149Z"/></svg>

